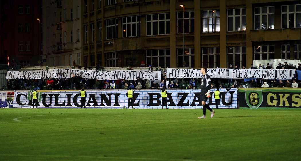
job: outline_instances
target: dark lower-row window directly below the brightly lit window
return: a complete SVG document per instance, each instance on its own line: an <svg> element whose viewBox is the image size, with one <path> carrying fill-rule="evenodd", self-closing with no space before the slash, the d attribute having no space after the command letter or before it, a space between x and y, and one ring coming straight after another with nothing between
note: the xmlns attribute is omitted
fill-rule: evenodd
<svg viewBox="0 0 301 161"><path fill-rule="evenodd" d="M219 47L201 48L202 64L208 68L220 67L220 50Z"/></svg>

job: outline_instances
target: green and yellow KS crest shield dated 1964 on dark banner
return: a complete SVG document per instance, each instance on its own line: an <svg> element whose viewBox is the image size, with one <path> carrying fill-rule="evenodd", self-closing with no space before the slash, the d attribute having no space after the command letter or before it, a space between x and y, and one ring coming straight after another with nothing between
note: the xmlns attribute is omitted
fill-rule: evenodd
<svg viewBox="0 0 301 161"><path fill-rule="evenodd" d="M246 102L250 109L257 109L262 103L262 91L245 91Z"/></svg>

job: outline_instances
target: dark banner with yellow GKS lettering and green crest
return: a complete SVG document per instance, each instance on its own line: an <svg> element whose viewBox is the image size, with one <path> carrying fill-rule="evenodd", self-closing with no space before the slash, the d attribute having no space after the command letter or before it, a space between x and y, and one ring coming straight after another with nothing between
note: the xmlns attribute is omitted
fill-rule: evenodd
<svg viewBox="0 0 301 161"><path fill-rule="evenodd" d="M240 109L301 109L299 88L239 88Z"/></svg>

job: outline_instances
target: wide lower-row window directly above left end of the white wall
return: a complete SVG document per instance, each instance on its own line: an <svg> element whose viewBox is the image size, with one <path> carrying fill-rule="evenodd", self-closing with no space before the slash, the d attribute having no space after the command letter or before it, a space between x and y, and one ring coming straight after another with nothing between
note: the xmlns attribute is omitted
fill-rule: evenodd
<svg viewBox="0 0 301 161"><path fill-rule="evenodd" d="M274 59L274 56L275 56L274 45L254 46L254 60Z"/></svg>

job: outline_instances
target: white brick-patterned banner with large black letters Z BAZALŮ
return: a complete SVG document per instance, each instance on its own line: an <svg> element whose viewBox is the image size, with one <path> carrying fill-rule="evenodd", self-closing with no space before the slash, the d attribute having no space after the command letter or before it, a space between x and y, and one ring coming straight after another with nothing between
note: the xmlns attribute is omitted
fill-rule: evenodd
<svg viewBox="0 0 301 161"><path fill-rule="evenodd" d="M216 89L211 89L213 95ZM220 89L221 104L219 108L237 108L237 88ZM126 90L87 90L87 108L123 108L128 107ZM167 90L168 108L196 109L203 108L200 89ZM27 100L28 91L14 91L13 108L33 108L32 101ZM134 108L162 108L161 90L134 90ZM209 106L215 108L215 99L210 97ZM42 91L39 108L80 108L79 90Z"/></svg>

